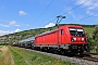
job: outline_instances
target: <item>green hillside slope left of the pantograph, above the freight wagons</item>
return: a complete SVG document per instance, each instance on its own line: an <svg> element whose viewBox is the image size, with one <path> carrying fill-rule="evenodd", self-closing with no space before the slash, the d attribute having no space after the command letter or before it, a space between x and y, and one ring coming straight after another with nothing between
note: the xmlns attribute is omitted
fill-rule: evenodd
<svg viewBox="0 0 98 65"><path fill-rule="evenodd" d="M15 34L5 35L5 36L0 37L0 43L1 44L9 44L9 43L17 42L20 40L23 40L23 39L26 39L26 38L29 38L29 37L34 37L35 35L39 35L41 32L52 30L52 29L56 29L56 28L57 27L36 28L36 29L29 29L29 30L15 32Z"/></svg>

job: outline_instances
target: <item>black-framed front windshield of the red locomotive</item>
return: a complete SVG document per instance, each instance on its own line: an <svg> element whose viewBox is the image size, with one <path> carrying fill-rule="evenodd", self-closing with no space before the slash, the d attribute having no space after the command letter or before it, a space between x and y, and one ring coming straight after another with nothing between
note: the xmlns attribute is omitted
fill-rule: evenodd
<svg viewBox="0 0 98 65"><path fill-rule="evenodd" d="M70 34L72 36L78 36L78 37L84 37L85 32L83 30L83 28L70 28Z"/></svg>

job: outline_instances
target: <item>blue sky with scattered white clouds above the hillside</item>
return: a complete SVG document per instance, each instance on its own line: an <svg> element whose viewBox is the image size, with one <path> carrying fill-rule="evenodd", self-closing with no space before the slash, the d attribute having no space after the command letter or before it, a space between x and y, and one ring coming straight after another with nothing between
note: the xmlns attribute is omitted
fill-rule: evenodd
<svg viewBox="0 0 98 65"><path fill-rule="evenodd" d="M60 24L98 24L98 0L0 0L0 36L52 27L58 15Z"/></svg>

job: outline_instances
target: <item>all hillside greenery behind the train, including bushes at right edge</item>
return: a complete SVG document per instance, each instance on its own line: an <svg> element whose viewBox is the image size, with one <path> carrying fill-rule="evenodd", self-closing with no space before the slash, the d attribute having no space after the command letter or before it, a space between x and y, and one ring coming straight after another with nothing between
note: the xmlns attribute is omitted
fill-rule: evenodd
<svg viewBox="0 0 98 65"><path fill-rule="evenodd" d="M65 24L60 24L60 26L62 26L62 25L65 25ZM66 25L79 25L79 24L66 24ZM93 46L91 48L97 48L97 47L95 47L98 43L96 41L96 39L98 39L98 37L95 37L98 34L97 32L98 30L96 30L97 29L96 25L81 25L81 26L83 26L85 29L85 32L88 37L88 43L90 46ZM20 32L15 32L15 34L4 35L4 36L0 37L0 44L10 44L13 42L17 42L20 40L23 40L23 39L26 39L29 37L34 37L35 35L39 35L45 31L53 30L56 28L58 28L58 27L54 26L54 27L49 27L49 28L35 28L35 29L24 30L24 31L20 31ZM95 51L97 51L97 49L95 49Z"/></svg>

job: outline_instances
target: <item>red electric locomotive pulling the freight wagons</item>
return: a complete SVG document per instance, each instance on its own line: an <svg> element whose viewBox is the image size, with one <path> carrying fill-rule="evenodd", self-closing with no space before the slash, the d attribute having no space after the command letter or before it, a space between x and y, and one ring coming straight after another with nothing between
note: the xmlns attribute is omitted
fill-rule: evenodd
<svg viewBox="0 0 98 65"><path fill-rule="evenodd" d="M87 51L87 37L82 26L64 25L56 30L35 36L35 47L57 49L64 53L82 54Z"/></svg>

